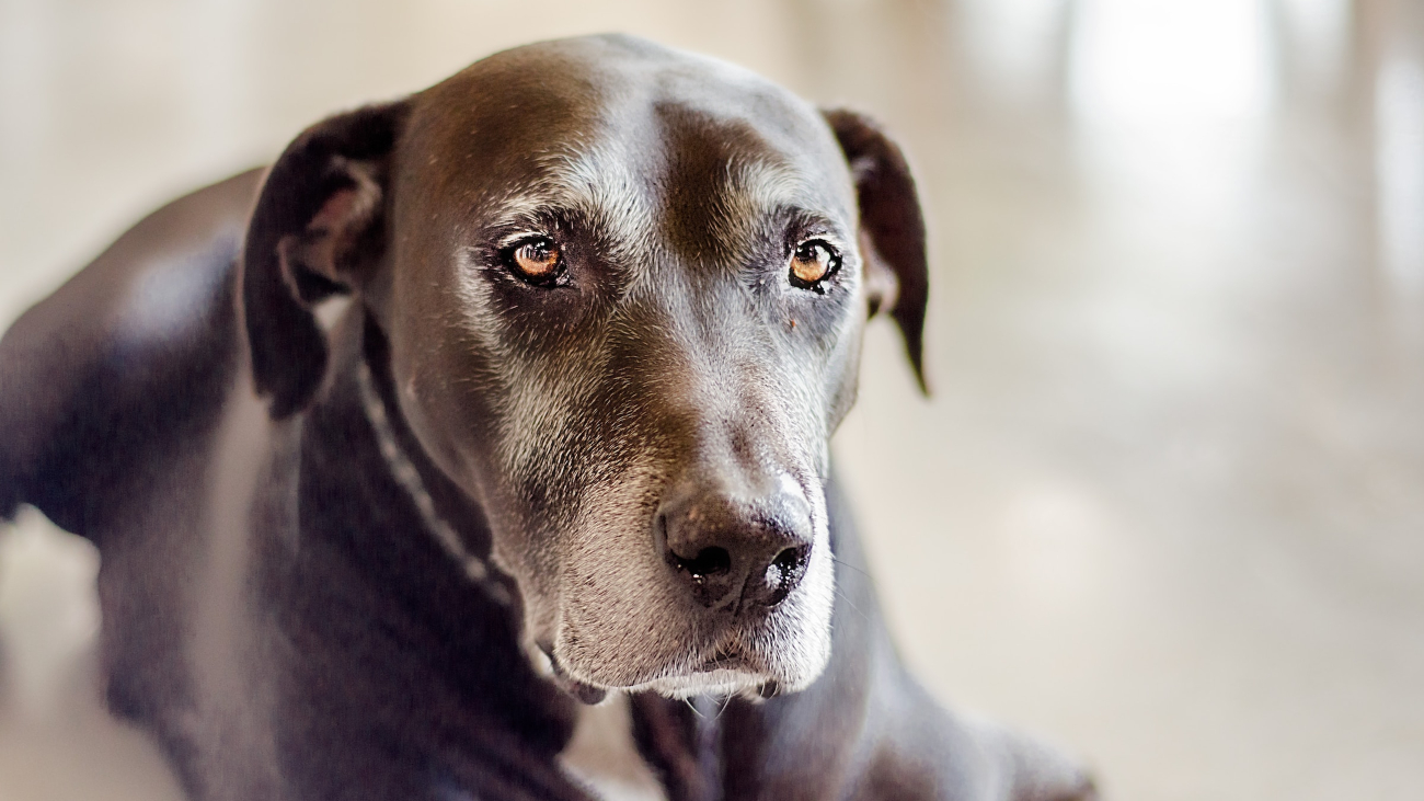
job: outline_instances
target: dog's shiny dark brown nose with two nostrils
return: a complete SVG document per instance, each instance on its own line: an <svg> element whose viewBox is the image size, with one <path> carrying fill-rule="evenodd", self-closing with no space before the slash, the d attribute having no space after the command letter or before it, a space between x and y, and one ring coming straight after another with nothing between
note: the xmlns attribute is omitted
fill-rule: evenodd
<svg viewBox="0 0 1424 801"><path fill-rule="evenodd" d="M799 492L755 500L692 493L665 502L658 527L668 566L709 609L776 606L810 562L810 506Z"/></svg>

